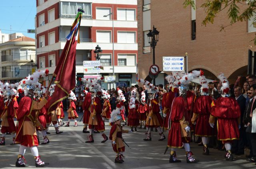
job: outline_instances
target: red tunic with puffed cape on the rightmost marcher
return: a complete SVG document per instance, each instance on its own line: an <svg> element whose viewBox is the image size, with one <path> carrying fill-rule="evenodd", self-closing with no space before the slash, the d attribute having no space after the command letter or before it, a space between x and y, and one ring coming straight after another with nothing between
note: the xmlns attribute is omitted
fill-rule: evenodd
<svg viewBox="0 0 256 169"><path fill-rule="evenodd" d="M220 97L215 101L211 114L218 118L218 140L239 139L238 118L241 116L240 106L235 98Z"/></svg>

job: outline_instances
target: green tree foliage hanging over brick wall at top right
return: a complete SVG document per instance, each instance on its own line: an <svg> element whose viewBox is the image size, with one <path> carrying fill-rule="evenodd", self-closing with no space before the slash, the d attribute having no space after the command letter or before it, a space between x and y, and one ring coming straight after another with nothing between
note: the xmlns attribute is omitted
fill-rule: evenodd
<svg viewBox="0 0 256 169"><path fill-rule="evenodd" d="M246 9L241 11L239 6L246 6ZM194 0L185 0L183 3L184 8L187 6L192 6L196 9ZM247 21L248 19L252 19L254 14L256 14L256 0L205 0L203 4L200 4L206 13L204 20L202 21L202 25L206 26L209 23L214 22L214 18L217 16L219 12L228 8L227 16L230 20L230 26L236 22ZM253 23L256 24L256 18L253 18ZM227 26L220 26L220 31L225 29ZM253 40L254 45L256 45L256 38Z"/></svg>

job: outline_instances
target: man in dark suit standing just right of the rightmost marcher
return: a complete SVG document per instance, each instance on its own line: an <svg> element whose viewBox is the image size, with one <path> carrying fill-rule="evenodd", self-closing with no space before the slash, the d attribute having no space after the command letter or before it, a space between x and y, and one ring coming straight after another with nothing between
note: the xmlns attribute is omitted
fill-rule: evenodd
<svg viewBox="0 0 256 169"><path fill-rule="evenodd" d="M239 86L236 86L234 88L234 95L236 98L236 101L238 102L240 106L240 111L241 111L241 118L240 118L240 139L239 140L234 140L233 142L233 148L232 152L234 152L236 155L243 155L244 154L244 145L246 143L246 128L244 128L243 124L243 116L244 116L244 110L246 107L246 98L242 95L242 89Z"/></svg>

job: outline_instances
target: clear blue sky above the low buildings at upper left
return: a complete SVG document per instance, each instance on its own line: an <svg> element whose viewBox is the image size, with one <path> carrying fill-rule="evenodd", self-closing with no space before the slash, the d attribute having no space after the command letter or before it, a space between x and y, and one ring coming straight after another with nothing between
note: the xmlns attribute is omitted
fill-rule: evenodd
<svg viewBox="0 0 256 169"><path fill-rule="evenodd" d="M20 32L35 39L35 33L27 33L27 29L35 29L35 16L36 0L0 0L2 33Z"/></svg>

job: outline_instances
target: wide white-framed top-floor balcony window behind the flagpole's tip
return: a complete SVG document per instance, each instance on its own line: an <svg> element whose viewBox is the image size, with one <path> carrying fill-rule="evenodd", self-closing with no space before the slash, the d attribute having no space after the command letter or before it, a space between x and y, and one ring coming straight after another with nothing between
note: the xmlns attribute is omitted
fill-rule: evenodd
<svg viewBox="0 0 256 169"><path fill-rule="evenodd" d="M82 8L82 19L92 19L92 4L79 2L60 2L60 18L76 18L77 9Z"/></svg>

